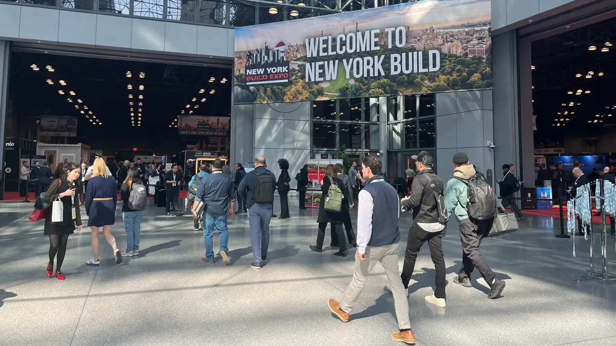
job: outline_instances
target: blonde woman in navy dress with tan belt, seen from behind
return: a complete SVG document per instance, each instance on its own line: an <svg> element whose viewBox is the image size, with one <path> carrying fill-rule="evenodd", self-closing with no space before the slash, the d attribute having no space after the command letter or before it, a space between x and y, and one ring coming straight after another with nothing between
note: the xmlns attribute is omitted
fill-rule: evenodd
<svg viewBox="0 0 616 346"><path fill-rule="evenodd" d="M113 248L113 257L116 264L122 263L120 249L116 247L115 238L111 235L111 225L115 223L115 209L118 194L116 193L116 180L107 175L107 166L102 158L94 160L92 177L87 182L86 214L87 225L92 229L92 251L94 258L87 261L87 265L99 265L99 228L103 228L103 236Z"/></svg>

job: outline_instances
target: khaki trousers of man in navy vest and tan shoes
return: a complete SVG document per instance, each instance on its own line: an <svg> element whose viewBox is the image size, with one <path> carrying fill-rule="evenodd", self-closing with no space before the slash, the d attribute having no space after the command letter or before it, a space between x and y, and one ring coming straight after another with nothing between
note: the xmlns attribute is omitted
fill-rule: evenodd
<svg viewBox="0 0 616 346"><path fill-rule="evenodd" d="M381 262L387 281L394 294L395 315L398 320L400 329L410 329L411 322L408 318L408 300L400 278L398 269L398 254L400 246L394 243L386 246L367 246L365 262L360 261L355 256L355 271L353 279L346 289L344 298L340 302L340 308L346 313L351 313L353 305L357 302L359 295L362 293L363 285L366 284L368 273L375 267L376 262Z"/></svg>

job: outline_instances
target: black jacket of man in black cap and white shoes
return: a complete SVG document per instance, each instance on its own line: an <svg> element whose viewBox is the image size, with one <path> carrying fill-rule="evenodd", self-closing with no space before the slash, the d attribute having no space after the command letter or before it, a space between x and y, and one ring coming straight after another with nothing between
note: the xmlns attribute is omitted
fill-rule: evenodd
<svg viewBox="0 0 616 346"><path fill-rule="evenodd" d="M415 175L411 186L411 195L402 200L402 206L406 209L413 209L414 222L439 222L439 211L434 198L435 191L432 189L432 183L434 183L436 193L444 195L443 181L440 180L438 175L434 174L431 168L426 168Z"/></svg>

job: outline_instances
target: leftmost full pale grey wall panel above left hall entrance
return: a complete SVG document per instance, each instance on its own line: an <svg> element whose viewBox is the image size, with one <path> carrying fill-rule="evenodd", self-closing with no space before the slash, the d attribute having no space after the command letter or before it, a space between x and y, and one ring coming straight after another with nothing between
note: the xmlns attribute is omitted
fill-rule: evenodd
<svg viewBox="0 0 616 346"><path fill-rule="evenodd" d="M20 15L19 38L57 42L59 22L60 10L24 6Z"/></svg>

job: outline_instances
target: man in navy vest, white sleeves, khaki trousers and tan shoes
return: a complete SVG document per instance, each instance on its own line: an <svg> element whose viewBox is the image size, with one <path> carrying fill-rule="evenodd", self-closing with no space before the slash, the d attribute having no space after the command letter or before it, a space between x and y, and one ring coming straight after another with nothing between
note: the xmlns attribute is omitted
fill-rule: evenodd
<svg viewBox="0 0 616 346"><path fill-rule="evenodd" d="M348 322L368 273L380 262L394 294L399 326L399 331L393 332L391 337L405 344L415 344L408 318L408 300L398 270L400 201L395 188L381 176L382 165L381 159L376 156L363 158L362 174L366 181L365 187L359 191L355 271L341 302L330 299L328 305L342 322Z"/></svg>

